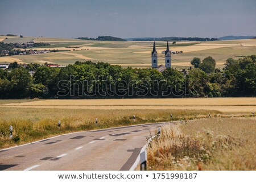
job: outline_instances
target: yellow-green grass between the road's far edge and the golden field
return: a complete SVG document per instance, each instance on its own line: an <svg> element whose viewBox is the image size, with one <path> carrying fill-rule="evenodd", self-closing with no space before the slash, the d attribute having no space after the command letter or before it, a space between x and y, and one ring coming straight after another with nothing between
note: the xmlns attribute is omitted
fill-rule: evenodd
<svg viewBox="0 0 256 182"><path fill-rule="evenodd" d="M185 118L205 118L220 113L213 110L172 110L172 121ZM135 114L135 122L133 121ZM94 122L98 119L98 126ZM57 122L61 121L61 127ZM170 110L86 110L86 109L39 109L0 108L0 148L33 142L64 133L106 129L109 127L137 125L150 122L171 121ZM9 138L9 126L13 136Z"/></svg>

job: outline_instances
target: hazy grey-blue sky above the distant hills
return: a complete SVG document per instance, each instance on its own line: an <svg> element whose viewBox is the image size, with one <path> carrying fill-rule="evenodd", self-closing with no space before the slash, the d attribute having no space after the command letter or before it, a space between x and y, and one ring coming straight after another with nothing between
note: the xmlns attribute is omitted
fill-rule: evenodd
<svg viewBox="0 0 256 182"><path fill-rule="evenodd" d="M0 34L256 36L255 0L0 0Z"/></svg>

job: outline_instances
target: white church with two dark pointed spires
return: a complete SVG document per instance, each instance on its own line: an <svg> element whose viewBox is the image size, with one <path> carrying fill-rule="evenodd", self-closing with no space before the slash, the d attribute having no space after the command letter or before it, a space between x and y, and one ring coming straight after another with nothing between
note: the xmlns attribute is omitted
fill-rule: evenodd
<svg viewBox="0 0 256 182"><path fill-rule="evenodd" d="M171 51L169 48L169 43L167 42L167 47L165 53L165 65L163 66L162 64L158 66L158 52L156 51L155 48L155 41L153 45L153 51L151 52L151 64L152 68L157 68L158 71L162 72L166 68L171 68Z"/></svg>

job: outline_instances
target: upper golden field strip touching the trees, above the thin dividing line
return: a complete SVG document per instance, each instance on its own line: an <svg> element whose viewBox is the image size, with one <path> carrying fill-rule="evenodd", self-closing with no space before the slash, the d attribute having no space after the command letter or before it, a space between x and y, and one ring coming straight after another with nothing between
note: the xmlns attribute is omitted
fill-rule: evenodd
<svg viewBox="0 0 256 182"><path fill-rule="evenodd" d="M127 99L79 99L79 100L38 100L12 106L254 106L256 97L226 98L127 98Z"/></svg>

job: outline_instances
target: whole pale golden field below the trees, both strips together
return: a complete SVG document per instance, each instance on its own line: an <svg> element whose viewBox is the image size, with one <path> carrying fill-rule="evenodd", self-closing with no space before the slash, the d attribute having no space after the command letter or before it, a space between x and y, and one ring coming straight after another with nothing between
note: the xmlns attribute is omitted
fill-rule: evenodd
<svg viewBox="0 0 256 182"><path fill-rule="evenodd" d="M136 98L92 100L38 100L5 107L59 108L59 109L170 109L170 110L218 110L227 113L251 113L256 111L256 97L238 98Z"/></svg>

